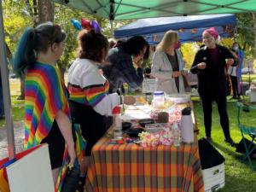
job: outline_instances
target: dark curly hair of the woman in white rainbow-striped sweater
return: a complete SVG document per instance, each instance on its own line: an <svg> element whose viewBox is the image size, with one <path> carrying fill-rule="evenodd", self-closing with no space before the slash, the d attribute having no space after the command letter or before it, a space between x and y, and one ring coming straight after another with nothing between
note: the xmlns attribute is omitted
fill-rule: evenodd
<svg viewBox="0 0 256 192"><path fill-rule="evenodd" d="M78 57L102 62L108 55L108 39L94 30L79 32Z"/></svg>

